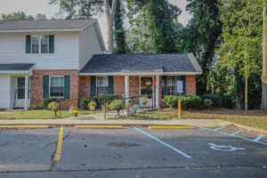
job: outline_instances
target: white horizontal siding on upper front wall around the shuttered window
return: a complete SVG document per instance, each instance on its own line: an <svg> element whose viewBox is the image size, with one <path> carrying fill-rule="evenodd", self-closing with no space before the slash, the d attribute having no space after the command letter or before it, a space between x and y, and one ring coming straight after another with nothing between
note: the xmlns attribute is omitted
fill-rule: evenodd
<svg viewBox="0 0 267 178"><path fill-rule="evenodd" d="M54 35L54 53L25 53L27 35ZM78 33L0 34L0 63L36 63L35 69L78 69Z"/></svg>

